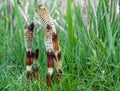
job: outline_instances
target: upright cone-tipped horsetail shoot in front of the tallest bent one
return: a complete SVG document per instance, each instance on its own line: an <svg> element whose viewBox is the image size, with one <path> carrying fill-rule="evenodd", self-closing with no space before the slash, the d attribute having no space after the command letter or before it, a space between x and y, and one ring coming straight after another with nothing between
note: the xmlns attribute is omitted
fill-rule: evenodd
<svg viewBox="0 0 120 91"><path fill-rule="evenodd" d="M53 42L52 42L52 27L47 25L45 31L45 46L46 46L46 55L47 55L47 67L48 73L46 75L46 83L48 87L52 87L52 76L53 76L53 68L54 68L54 49L53 49Z"/></svg>

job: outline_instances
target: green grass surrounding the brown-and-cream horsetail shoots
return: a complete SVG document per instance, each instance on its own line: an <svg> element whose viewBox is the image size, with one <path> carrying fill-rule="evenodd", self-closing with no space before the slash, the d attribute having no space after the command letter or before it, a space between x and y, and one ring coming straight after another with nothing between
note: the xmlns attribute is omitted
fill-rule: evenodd
<svg viewBox="0 0 120 91"><path fill-rule="evenodd" d="M111 0L110 0L111 1ZM22 2L23 9L27 0ZM26 85L24 30L28 24L20 13L17 0L14 7L5 0L0 4L0 91L119 91L120 90L120 16L116 16L116 0L99 0L97 11L88 0L88 25L83 21L79 4L68 0L66 14L62 2L45 3L52 17L63 27L59 42L62 51L63 79L53 88L46 87L47 59L43 23L35 22L38 2L28 7L28 23L35 24L33 50L39 48L40 85ZM109 7L108 7L109 6ZM96 16L95 16L96 15Z"/></svg>

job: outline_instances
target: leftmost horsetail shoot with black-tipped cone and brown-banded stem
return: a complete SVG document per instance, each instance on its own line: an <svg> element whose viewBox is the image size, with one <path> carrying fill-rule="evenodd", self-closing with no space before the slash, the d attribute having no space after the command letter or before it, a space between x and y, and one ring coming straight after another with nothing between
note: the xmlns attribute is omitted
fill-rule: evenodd
<svg viewBox="0 0 120 91"><path fill-rule="evenodd" d="M34 60L34 53L31 51L32 49L32 41L33 41L33 28L34 24L31 23L28 26L28 29L24 32L24 40L26 46L26 71L27 71L27 83L29 84L32 79L32 65Z"/></svg>

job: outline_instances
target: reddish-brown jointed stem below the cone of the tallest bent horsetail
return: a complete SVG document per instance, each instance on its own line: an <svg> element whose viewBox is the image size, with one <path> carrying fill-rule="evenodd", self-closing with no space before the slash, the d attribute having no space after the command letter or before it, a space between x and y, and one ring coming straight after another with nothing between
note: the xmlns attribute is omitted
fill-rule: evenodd
<svg viewBox="0 0 120 91"><path fill-rule="evenodd" d="M53 41L53 47L54 47L54 62L57 69L56 78L59 80L62 78L62 61L61 61L61 51L60 51L57 33L52 34L52 41Z"/></svg>

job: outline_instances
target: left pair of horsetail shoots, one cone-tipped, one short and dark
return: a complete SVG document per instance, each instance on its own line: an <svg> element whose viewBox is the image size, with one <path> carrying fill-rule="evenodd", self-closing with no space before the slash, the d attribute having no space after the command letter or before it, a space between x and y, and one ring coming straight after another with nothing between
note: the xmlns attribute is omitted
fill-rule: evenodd
<svg viewBox="0 0 120 91"><path fill-rule="evenodd" d="M24 40L26 46L26 70L27 70L27 83L29 84L32 80L32 77L39 79L38 77L38 53L39 50L36 49L35 52L32 52L32 42L33 42L33 29L34 24L31 23L28 26L28 29L25 30Z"/></svg>

